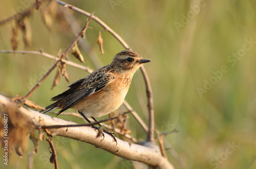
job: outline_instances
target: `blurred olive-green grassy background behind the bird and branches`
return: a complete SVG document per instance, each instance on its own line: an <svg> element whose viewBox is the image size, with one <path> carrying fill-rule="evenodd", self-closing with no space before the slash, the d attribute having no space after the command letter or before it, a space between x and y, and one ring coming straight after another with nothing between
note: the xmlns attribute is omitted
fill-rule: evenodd
<svg viewBox="0 0 256 169"><path fill-rule="evenodd" d="M0 19L29 7L31 2L2 2ZM116 31L133 50L152 61L145 64L145 68L153 88L156 126L161 132L172 131L175 127L179 130L166 136L170 144L166 148L172 148L167 156L176 168L256 168L255 1L66 2L95 12L95 16ZM68 11L80 27L87 19L59 5L54 10ZM50 31L42 22L40 10L34 11L29 21L32 46L25 48L20 34L16 50L38 51L41 48L57 55L59 49L66 50L75 38L69 27L61 26L59 20L54 20ZM0 27L1 50L12 50L12 24ZM88 51L80 49L85 59L83 65L95 69L109 64L124 48L108 32L102 32L105 53L101 55L97 38L102 27L93 20L89 25L93 29L87 30L85 41L90 48ZM89 55L99 59L95 61L96 67ZM69 56L71 61L79 63L71 54ZM52 63L40 55L0 53L0 92L25 96L31 84L35 85ZM223 66L225 69L221 72ZM88 75L71 66L67 66L67 71L70 82ZM50 90L55 72L30 100L47 106L50 98L65 91L69 84L63 77L59 85ZM147 101L140 71L133 78L126 100L146 122ZM83 123L74 117L58 118ZM131 134L143 141L146 134L131 115L129 124ZM54 143L59 168L133 168L131 161L122 161L86 143L58 136L54 137ZM39 143L38 153L33 155L34 168L54 167L49 162L48 147L46 141ZM23 158L13 153L8 167L3 161L0 167L26 168L32 150L29 140ZM170 151L176 151L186 167L182 167Z"/></svg>

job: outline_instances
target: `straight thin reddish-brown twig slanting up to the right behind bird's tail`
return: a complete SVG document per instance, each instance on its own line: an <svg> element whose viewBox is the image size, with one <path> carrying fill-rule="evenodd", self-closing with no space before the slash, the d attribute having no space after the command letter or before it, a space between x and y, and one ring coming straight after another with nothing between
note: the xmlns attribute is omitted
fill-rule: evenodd
<svg viewBox="0 0 256 169"><path fill-rule="evenodd" d="M88 18L86 24L83 26L83 29L81 30L81 33L84 32L87 28L88 28L88 23L91 20L93 14L90 15L90 17ZM53 69L58 65L58 63L61 61L61 59L63 59L65 57L65 55L67 55L67 53L70 51L70 49L75 45L75 43L77 42L77 40L81 37L82 34L79 34L75 40L70 44L70 46L67 48L67 50L61 54L60 58L58 61L55 62L55 64L51 67L51 69L38 81L38 83L34 86L33 89L31 89L31 91L24 97L24 100L28 99L32 93L41 85L42 81L45 80L45 78L53 71Z"/></svg>

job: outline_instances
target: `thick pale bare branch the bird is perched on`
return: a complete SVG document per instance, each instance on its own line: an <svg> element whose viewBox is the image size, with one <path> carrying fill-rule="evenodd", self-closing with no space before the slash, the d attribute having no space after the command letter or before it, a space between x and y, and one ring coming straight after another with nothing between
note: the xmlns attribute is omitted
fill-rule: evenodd
<svg viewBox="0 0 256 169"><path fill-rule="evenodd" d="M20 120L26 121L23 123L32 124L33 126L50 126L50 125L70 125L75 124L73 122L65 121L48 115L40 114L38 111L34 111L23 106L18 107L14 102L3 95L0 95L0 112L8 109L15 109L19 114ZM9 116L11 118L16 118ZM12 120L11 120L12 121ZM48 135L59 135L72 139L86 142L95 147L108 151L116 156L143 162L145 164L156 166L159 168L174 168L164 157L161 156L159 148L152 143L145 143L143 145L131 144L124 142L121 139L117 139L117 145L113 138L105 134L104 139L102 137L96 137L97 131L91 127L64 127L64 128L52 128L47 129Z"/></svg>

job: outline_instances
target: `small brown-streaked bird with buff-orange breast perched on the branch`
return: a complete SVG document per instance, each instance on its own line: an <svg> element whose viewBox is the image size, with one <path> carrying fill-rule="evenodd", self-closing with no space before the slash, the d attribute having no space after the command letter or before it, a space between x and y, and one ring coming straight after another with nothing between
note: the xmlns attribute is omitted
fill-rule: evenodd
<svg viewBox="0 0 256 169"><path fill-rule="evenodd" d="M127 94L134 73L143 63L150 62L132 50L117 53L113 62L101 67L87 77L73 82L67 91L53 97L55 103L41 110L46 114L56 108L61 112L73 108L87 117L101 117L118 109Z"/></svg>

